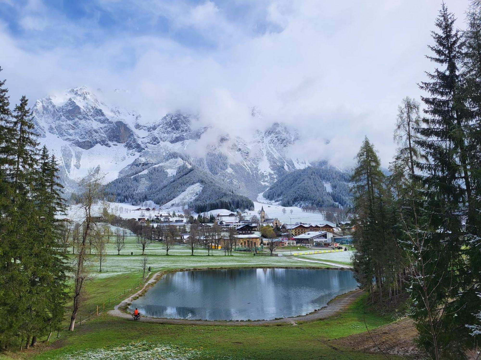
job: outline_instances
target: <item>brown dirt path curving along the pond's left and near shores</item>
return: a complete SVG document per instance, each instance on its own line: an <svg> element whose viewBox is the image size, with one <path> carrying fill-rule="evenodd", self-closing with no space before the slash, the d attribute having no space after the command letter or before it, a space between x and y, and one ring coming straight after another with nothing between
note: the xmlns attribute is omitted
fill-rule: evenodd
<svg viewBox="0 0 481 360"><path fill-rule="evenodd" d="M109 311L110 315L122 317L124 319L132 319L130 313L126 313L120 310L121 307L128 303L131 303L136 296L139 296L144 290L148 288L151 284L155 283L160 276L162 276L162 271L152 276L152 278L145 284L145 286L139 290L137 293L129 296L127 299L123 300L120 304L115 306L114 310ZM150 323L159 324L178 324L178 325L225 325L225 326L245 326L245 325L267 325L267 324L295 324L297 321L312 321L318 319L324 319L332 316L338 312L344 310L348 305L354 302L361 294L362 290L356 289L350 291L346 294L338 296L337 298L329 301L328 305L310 314L296 317L288 317L284 319L277 320L257 320L257 321L210 321L210 320L184 320L184 319L164 319L155 317L141 317L140 321L146 321Z"/></svg>

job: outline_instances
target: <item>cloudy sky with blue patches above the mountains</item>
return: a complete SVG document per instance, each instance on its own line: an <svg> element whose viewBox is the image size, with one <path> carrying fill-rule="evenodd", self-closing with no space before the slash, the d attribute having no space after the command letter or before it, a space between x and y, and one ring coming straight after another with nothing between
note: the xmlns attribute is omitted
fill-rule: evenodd
<svg viewBox="0 0 481 360"><path fill-rule="evenodd" d="M467 0L447 0L464 25ZM299 152L349 165L364 135L387 166L438 0L0 0L12 102L86 85L147 119L181 109L230 132L283 121ZM129 90L119 98L113 89ZM249 116L257 106L266 121ZM329 145L320 139L328 137ZM304 154L301 154L304 155Z"/></svg>

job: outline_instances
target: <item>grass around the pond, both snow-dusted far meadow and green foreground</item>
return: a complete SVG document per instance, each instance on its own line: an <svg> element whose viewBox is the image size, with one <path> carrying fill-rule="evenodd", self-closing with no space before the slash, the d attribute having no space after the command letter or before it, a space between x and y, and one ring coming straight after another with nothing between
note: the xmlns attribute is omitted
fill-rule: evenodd
<svg viewBox="0 0 481 360"><path fill-rule="evenodd" d="M133 243L132 246L136 245ZM113 244L108 244L108 251ZM306 266L301 260L284 257L253 256L235 253L224 256L223 251L198 249L194 256L183 246L177 246L173 255L164 255L158 244L152 244L149 265L152 276L166 269L200 267L255 267ZM169 252L170 253L170 252ZM211 252L212 253L212 252ZM79 317L95 311L99 316L76 324L73 333L61 331L59 338L52 336L50 344L39 343L36 348L3 355L4 358L28 359L383 359L379 355L355 352L329 340L366 331L390 323L392 319L370 311L366 296L362 296L344 312L326 320L297 321L291 324L245 326L222 325L170 325L134 322L107 313L114 305L137 289L132 284L141 278L140 255L108 255L98 272L98 263L92 262L92 277L86 284L86 294ZM309 258L306 256L306 258ZM95 256L92 257L95 261ZM328 267L323 264L309 266ZM125 292L125 295L123 295ZM116 294L117 300L108 302ZM241 296L241 295L240 295ZM103 310L105 304L105 310ZM102 311L103 310L103 311ZM68 311L67 311L68 313ZM78 320L78 318L77 318ZM67 319L65 320L67 324ZM341 341L342 344L342 341ZM1 358L1 355L0 355ZM391 359L401 359L390 356Z"/></svg>

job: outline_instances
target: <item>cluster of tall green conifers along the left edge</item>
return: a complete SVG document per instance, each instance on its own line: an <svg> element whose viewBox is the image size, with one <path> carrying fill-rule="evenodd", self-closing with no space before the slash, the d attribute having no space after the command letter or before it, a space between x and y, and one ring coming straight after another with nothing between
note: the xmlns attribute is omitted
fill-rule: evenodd
<svg viewBox="0 0 481 360"><path fill-rule="evenodd" d="M69 263L55 219L64 211L62 186L55 157L36 139L28 100L11 110L0 81L1 348L28 348L58 330L68 297Z"/></svg>

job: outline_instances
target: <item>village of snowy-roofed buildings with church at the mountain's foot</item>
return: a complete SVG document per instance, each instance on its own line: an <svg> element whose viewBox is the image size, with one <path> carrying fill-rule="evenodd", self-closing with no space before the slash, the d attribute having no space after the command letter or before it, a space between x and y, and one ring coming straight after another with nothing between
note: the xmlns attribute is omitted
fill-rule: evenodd
<svg viewBox="0 0 481 360"><path fill-rule="evenodd" d="M256 203L258 204L258 203ZM264 209L270 204L260 204L257 211L231 212L225 209L213 210L203 214L193 214L190 209L160 211L155 206L136 207L127 210L123 204L119 212L118 204L113 206L115 220L112 225L130 228L134 233L148 233L149 240L163 242L167 234L178 245L196 242L199 247L240 252L263 253L272 250L281 254L283 250L296 246L300 250L348 250L352 245L353 228L349 221L333 223L322 220L323 215L317 214L318 222L280 221L278 217L269 218ZM126 208L124 208L126 206ZM132 206L131 206L132 207ZM276 206L277 208L279 206ZM301 208L295 208L301 212ZM291 208L291 214L294 210ZM278 210L277 210L278 212ZM287 210L281 208L284 217L289 218ZM135 217L132 216L135 214ZM191 229L194 228L194 234ZM192 236L196 240L190 239ZM229 236L233 239L230 240ZM295 249L294 249L295 250Z"/></svg>

